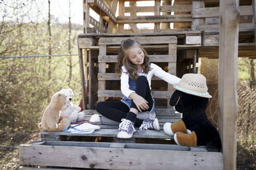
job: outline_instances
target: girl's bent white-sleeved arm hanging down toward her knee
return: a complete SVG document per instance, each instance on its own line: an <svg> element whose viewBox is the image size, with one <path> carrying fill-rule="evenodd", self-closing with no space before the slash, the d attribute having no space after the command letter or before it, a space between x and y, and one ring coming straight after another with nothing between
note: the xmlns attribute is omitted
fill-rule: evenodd
<svg viewBox="0 0 256 170"><path fill-rule="evenodd" d="M129 74L126 74L126 69L122 66L122 74L121 74L121 92L124 96L129 98L131 93L135 93L135 91L129 89ZM131 99L131 98L129 98Z"/></svg>

